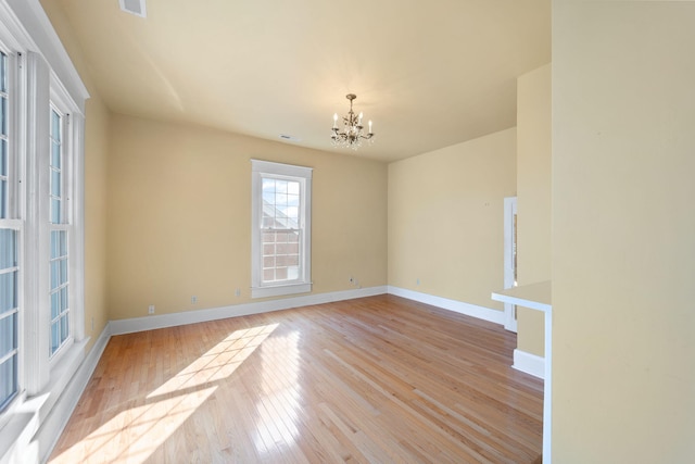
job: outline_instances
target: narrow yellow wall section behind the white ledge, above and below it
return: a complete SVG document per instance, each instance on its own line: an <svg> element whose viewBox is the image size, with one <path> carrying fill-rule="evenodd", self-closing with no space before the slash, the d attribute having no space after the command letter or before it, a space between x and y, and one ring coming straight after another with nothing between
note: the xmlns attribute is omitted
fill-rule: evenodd
<svg viewBox="0 0 695 464"><path fill-rule="evenodd" d="M551 279L551 65L517 80L517 279ZM544 355L543 313L517 309L517 348Z"/></svg>

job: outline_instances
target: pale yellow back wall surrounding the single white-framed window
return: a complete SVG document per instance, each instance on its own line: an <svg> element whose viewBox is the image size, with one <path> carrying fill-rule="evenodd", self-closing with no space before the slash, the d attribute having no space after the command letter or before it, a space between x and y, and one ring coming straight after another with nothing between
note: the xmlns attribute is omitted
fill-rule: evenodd
<svg viewBox="0 0 695 464"><path fill-rule="evenodd" d="M387 283L383 163L124 115L110 153L112 319L251 301L251 159L314 168L314 293Z"/></svg>

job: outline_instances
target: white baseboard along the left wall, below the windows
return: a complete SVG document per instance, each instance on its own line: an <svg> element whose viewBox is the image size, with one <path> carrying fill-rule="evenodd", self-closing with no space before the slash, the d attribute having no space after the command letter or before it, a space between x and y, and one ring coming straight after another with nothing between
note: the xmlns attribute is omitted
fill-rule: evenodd
<svg viewBox="0 0 695 464"><path fill-rule="evenodd" d="M106 323L106 326L99 335L99 338L97 338L94 346L89 350L89 353L87 353L87 356L85 356L80 363L72 379L51 407L46 419L41 422L41 425L33 440L38 447L38 454L41 456L41 462L48 461L50 453L53 451L59 438L63 434L63 429L67 425L70 417L73 415L73 411L75 411L77 402L85 392L85 388L87 388L87 384L97 368L99 359L104 352L110 338L110 323Z"/></svg>

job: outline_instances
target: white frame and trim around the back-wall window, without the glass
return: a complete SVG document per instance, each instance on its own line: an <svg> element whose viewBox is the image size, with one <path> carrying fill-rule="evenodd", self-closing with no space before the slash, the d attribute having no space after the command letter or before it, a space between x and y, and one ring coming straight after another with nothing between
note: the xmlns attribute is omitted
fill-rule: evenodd
<svg viewBox="0 0 695 464"><path fill-rule="evenodd" d="M312 167L251 160L251 298L281 297L312 291ZM300 183L300 273L296 279L263 281L263 179Z"/></svg>

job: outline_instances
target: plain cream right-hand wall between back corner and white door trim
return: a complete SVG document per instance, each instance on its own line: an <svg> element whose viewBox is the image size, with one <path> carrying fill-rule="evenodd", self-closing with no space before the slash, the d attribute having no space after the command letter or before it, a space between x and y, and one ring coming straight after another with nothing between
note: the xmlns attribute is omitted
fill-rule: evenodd
<svg viewBox="0 0 695 464"><path fill-rule="evenodd" d="M515 128L391 163L389 285L502 311L490 293L515 195Z"/></svg>

